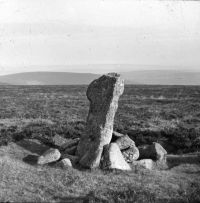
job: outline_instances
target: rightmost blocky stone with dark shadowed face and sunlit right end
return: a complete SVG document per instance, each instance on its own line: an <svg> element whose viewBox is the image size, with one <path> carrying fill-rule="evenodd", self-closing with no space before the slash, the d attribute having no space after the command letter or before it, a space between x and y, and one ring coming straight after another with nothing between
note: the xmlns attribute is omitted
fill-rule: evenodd
<svg viewBox="0 0 200 203"><path fill-rule="evenodd" d="M152 145L139 146L138 149L140 153L139 159L165 160L167 154L167 151L156 142Z"/></svg>

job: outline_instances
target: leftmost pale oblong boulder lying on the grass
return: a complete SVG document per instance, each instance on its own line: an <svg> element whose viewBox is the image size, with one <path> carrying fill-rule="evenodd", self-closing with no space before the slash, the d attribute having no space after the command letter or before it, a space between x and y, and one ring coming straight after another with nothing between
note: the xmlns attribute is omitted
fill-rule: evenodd
<svg viewBox="0 0 200 203"><path fill-rule="evenodd" d="M61 154L58 149L50 148L38 158L37 163L40 165L48 164L59 160Z"/></svg>

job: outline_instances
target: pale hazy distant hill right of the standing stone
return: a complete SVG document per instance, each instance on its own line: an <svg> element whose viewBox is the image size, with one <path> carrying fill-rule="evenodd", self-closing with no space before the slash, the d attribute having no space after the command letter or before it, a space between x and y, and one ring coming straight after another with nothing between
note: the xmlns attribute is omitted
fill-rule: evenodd
<svg viewBox="0 0 200 203"><path fill-rule="evenodd" d="M129 84L200 85L200 72L148 70L122 72Z"/></svg>

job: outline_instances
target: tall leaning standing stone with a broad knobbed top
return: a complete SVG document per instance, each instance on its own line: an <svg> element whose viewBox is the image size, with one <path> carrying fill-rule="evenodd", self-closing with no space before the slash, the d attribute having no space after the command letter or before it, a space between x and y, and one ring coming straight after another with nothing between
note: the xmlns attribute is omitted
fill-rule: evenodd
<svg viewBox="0 0 200 203"><path fill-rule="evenodd" d="M99 166L103 147L112 138L114 116L123 91L124 81L116 73L103 75L89 85L87 97L90 110L86 130L76 152L84 167Z"/></svg>

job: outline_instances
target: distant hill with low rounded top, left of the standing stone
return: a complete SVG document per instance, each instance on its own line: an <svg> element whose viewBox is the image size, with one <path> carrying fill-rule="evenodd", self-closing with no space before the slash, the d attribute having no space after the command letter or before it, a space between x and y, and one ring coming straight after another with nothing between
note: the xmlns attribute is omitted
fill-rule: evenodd
<svg viewBox="0 0 200 203"><path fill-rule="evenodd" d="M0 76L0 82L12 85L78 85L89 84L99 75L68 72L26 72Z"/></svg>

